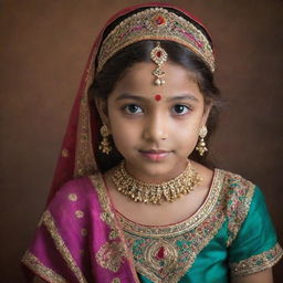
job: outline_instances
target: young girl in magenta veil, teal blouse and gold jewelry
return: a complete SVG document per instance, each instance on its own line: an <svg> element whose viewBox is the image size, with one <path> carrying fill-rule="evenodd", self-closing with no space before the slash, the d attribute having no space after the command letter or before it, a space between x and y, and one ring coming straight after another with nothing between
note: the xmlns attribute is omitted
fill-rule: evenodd
<svg viewBox="0 0 283 283"><path fill-rule="evenodd" d="M22 260L35 282L272 282L282 249L260 189L206 166L213 71L208 32L181 9L107 22Z"/></svg>

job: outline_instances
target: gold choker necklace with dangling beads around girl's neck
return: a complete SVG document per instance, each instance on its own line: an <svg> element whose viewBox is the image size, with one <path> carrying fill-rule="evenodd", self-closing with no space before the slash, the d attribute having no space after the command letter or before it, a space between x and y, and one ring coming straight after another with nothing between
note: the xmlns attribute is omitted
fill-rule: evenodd
<svg viewBox="0 0 283 283"><path fill-rule="evenodd" d="M201 181L190 161L186 169L174 179L161 184L146 184L132 177L123 160L112 177L117 190L134 201L160 205L164 201L175 201L182 195L190 193Z"/></svg>

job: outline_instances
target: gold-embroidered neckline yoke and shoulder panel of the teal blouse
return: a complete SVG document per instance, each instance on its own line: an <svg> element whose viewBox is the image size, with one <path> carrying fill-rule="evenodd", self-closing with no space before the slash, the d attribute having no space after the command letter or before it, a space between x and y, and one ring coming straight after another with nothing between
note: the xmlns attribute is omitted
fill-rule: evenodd
<svg viewBox="0 0 283 283"><path fill-rule="evenodd" d="M148 227L118 216L136 270L156 283L178 282L226 220L237 235L249 211L253 188L239 176L216 169L205 203L182 222Z"/></svg>

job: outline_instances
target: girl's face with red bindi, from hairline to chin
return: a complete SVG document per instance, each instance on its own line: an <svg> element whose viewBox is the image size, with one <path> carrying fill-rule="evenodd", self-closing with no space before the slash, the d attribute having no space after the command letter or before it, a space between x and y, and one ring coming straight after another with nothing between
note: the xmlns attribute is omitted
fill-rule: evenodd
<svg viewBox="0 0 283 283"><path fill-rule="evenodd" d="M128 171L149 182L168 180L185 169L210 109L182 66L166 62L163 86L154 84L156 67L137 63L128 69L107 98L107 115L97 101Z"/></svg>

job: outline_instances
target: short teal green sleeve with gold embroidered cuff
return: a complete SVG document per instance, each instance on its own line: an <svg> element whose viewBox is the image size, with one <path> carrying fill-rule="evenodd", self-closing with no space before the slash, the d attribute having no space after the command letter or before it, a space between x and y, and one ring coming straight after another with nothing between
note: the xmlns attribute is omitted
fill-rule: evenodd
<svg viewBox="0 0 283 283"><path fill-rule="evenodd" d="M229 248L232 275L249 275L274 265L282 256L264 197L255 187L247 219Z"/></svg>

